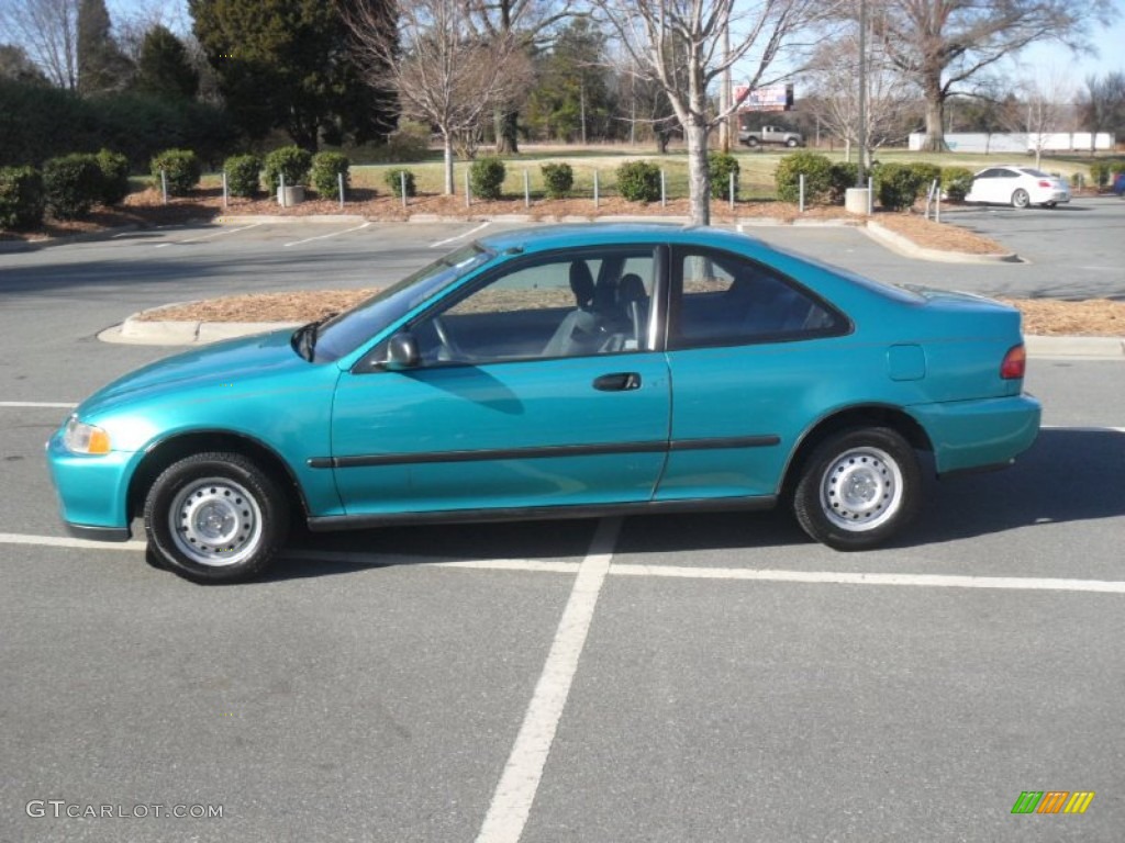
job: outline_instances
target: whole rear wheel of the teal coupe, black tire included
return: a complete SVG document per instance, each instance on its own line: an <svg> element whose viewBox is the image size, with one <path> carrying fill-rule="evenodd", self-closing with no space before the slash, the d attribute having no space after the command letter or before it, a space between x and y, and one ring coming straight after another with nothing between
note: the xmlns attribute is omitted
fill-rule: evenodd
<svg viewBox="0 0 1125 843"><path fill-rule="evenodd" d="M921 469L910 443L889 427L861 427L816 447L793 492L793 513L811 538L861 551L908 524L920 497Z"/></svg>

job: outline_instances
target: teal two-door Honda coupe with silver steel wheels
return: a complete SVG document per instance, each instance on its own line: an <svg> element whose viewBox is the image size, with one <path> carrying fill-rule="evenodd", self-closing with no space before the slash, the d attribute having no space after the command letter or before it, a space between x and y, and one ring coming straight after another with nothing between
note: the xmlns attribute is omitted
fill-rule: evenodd
<svg viewBox="0 0 1125 843"><path fill-rule="evenodd" d="M842 550L1034 442L1019 314L667 225L483 238L297 330L110 383L47 443L74 535L198 582L312 531L785 502Z"/></svg>

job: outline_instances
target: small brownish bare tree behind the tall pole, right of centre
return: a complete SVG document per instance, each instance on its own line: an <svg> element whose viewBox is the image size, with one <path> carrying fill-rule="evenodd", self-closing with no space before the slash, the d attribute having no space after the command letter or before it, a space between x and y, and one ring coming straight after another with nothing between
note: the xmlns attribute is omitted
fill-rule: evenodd
<svg viewBox="0 0 1125 843"><path fill-rule="evenodd" d="M855 84L858 64L858 34L848 30L821 45L809 65L811 107L821 123L844 138L849 151L860 143L860 92ZM898 73L878 47L868 51L864 75L867 148L858 151L858 160L860 166L867 171L874 149L900 142L910 132L908 121L917 115L918 97L914 83Z"/></svg>

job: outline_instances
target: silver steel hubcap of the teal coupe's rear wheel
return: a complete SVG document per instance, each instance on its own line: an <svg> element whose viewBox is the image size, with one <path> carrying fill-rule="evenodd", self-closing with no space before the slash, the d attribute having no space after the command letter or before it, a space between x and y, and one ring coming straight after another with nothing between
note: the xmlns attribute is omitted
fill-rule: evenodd
<svg viewBox="0 0 1125 843"><path fill-rule="evenodd" d="M885 524L902 505L902 472L890 454L857 447L837 456L820 483L820 506L837 527L852 533Z"/></svg>

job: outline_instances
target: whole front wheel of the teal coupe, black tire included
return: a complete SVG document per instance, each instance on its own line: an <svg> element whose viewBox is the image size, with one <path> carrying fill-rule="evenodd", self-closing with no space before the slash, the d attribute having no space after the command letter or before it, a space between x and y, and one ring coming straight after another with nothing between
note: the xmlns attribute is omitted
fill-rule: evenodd
<svg viewBox="0 0 1125 843"><path fill-rule="evenodd" d="M156 478L145 498L144 526L148 552L180 577L242 582L281 550L289 504L242 454L194 454Z"/></svg>

